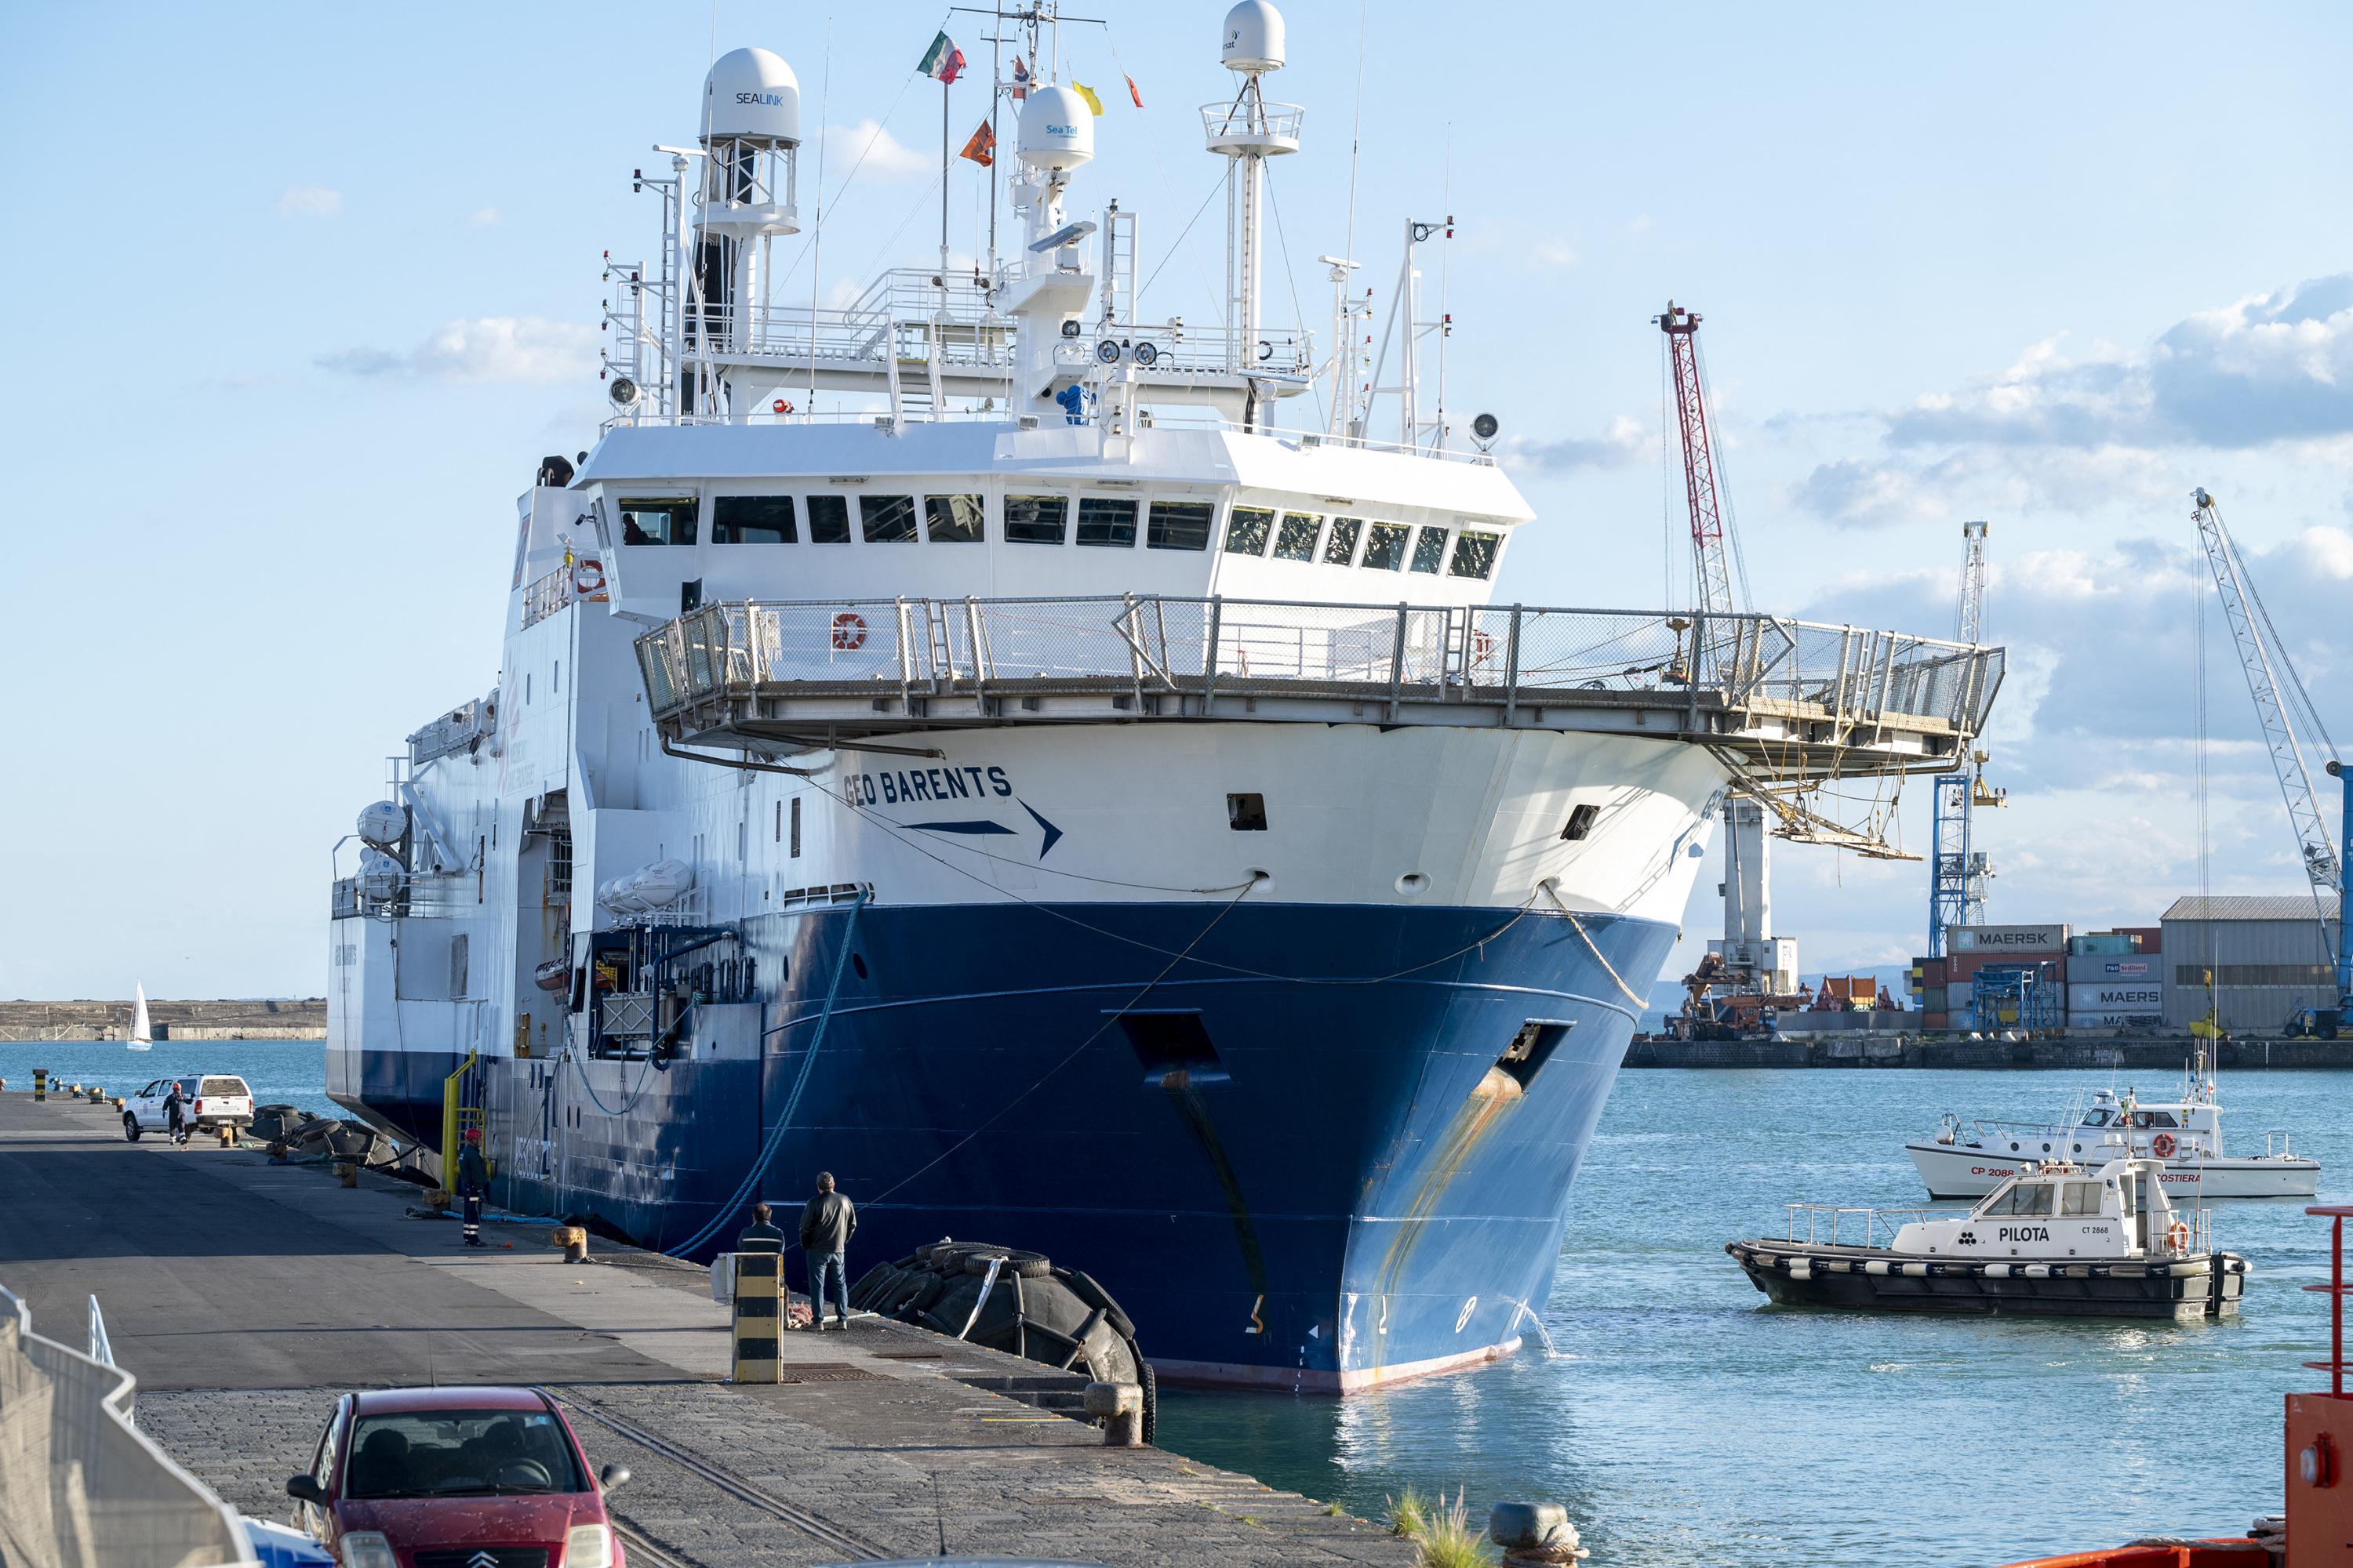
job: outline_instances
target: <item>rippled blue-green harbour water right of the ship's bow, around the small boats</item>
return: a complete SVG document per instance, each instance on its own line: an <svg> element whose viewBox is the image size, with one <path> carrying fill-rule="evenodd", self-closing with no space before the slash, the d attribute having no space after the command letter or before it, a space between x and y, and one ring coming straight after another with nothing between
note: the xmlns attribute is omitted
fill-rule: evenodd
<svg viewBox="0 0 2353 1568"><path fill-rule="evenodd" d="M1569 1199L1544 1312L1558 1354L1348 1401L1169 1389L1160 1441L1367 1516L1405 1483L1466 1486L1475 1514L1553 1500L1595 1563L1638 1568L1960 1568L2238 1535L2280 1509L2280 1394L2313 1387L2299 1363L2325 1335L2299 1286L2322 1279L2327 1234L2301 1201L2217 1208L2217 1241L2252 1260L2226 1324L1774 1309L1722 1251L1779 1227L1791 1199L1918 1204L1901 1143L1937 1112L2049 1117L2085 1086L1628 1072ZM2327 1072L2231 1074L2226 1138L2261 1150L2261 1128L2292 1128L2322 1161L2322 1197L2353 1192L2346 1091ZM2064 1462L2021 1465L2042 1439Z"/></svg>

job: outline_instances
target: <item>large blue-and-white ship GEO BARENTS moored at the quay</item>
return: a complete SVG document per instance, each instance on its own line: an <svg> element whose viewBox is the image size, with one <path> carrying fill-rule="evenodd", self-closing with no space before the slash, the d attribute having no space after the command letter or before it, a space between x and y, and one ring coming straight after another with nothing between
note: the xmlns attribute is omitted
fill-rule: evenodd
<svg viewBox="0 0 2353 1568"><path fill-rule="evenodd" d="M1165 1378L1499 1356L1727 799L1953 766L1998 654L1494 604L1541 524L1431 374L1445 226L1381 310L1327 259L1322 353L1261 320L1273 7L1202 110L1214 324L1141 320L1052 9L1005 21L1002 256L814 306L762 49L638 172L612 418L344 851L329 1093L428 1147L459 1103L501 1204L687 1255L833 1171L854 1267L1045 1251Z"/></svg>

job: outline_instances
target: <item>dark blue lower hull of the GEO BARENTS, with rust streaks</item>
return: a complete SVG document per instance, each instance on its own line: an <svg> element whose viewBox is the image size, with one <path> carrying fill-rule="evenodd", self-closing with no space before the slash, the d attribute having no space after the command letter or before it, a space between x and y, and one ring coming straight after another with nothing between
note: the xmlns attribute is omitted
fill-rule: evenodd
<svg viewBox="0 0 2353 1568"><path fill-rule="evenodd" d="M833 1171L861 1204L854 1272L944 1234L1038 1248L1101 1279L1167 1375L1313 1389L1518 1342L1633 1030L1619 976L1647 983L1675 940L1332 905L871 907L854 931L840 907L744 933L784 994L758 1044L668 1070L494 1065L492 1147L544 1140L555 1178L518 1157L511 1206L661 1248L701 1232L791 1098L852 938L760 1192L791 1206ZM1532 1020L1539 1060L1499 1067ZM438 1143L452 1065L334 1053L329 1091Z"/></svg>

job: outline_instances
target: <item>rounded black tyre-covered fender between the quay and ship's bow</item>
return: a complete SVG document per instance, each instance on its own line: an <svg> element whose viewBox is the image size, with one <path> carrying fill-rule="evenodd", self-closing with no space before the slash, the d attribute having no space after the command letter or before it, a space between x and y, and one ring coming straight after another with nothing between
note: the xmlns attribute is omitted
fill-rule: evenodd
<svg viewBox="0 0 2353 1568"><path fill-rule="evenodd" d="M991 1260L1002 1260L995 1284L988 1284ZM1144 1441L1153 1441L1160 1401L1134 1321L1089 1274L1059 1269L1045 1253L988 1241L932 1241L868 1269L849 1288L849 1305L1094 1382L1141 1385Z"/></svg>

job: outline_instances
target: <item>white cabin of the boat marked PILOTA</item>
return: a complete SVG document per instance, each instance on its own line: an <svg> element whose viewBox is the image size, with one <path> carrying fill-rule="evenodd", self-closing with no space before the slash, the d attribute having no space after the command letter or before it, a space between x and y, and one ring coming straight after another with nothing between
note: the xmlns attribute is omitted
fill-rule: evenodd
<svg viewBox="0 0 2353 1568"><path fill-rule="evenodd" d="M2165 1199L2162 1171L2160 1159L2028 1164L1967 1218L1904 1225L1894 1251L1986 1260L2186 1253L2198 1227Z"/></svg>

